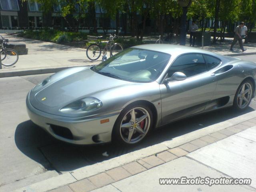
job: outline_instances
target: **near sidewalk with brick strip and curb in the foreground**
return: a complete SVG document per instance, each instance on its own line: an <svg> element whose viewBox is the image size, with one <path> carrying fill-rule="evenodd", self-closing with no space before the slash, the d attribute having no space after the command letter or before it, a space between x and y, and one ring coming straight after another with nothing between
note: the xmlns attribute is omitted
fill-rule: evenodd
<svg viewBox="0 0 256 192"><path fill-rule="evenodd" d="M251 178L252 184L159 184L159 178L181 176ZM256 191L256 112L15 190L25 191Z"/></svg>

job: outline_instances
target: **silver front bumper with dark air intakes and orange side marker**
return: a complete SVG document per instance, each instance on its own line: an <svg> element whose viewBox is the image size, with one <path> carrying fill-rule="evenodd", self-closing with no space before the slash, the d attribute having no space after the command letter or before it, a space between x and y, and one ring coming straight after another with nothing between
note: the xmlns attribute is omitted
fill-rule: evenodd
<svg viewBox="0 0 256 192"><path fill-rule="evenodd" d="M69 118L42 112L26 98L28 116L38 126L58 140L72 144L96 144L111 141L112 129L121 110L96 118ZM109 122L101 123L101 120ZM56 129L57 128L57 129ZM64 134L62 133L62 130ZM70 135L71 134L71 135Z"/></svg>

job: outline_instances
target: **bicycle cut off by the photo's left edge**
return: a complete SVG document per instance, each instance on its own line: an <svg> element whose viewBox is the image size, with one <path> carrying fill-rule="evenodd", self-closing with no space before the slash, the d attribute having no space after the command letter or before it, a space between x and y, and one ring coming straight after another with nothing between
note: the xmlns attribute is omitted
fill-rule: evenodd
<svg viewBox="0 0 256 192"><path fill-rule="evenodd" d="M12 66L16 64L19 59L19 55L14 49L6 48L7 43L9 42L8 39L1 36L0 40L0 48L1 48L1 62L4 66Z"/></svg>

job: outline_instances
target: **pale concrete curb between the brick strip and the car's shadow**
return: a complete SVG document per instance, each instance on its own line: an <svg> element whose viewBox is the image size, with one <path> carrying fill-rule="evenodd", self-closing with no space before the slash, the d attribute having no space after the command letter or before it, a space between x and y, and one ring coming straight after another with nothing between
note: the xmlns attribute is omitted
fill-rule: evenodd
<svg viewBox="0 0 256 192"><path fill-rule="evenodd" d="M110 160L106 160L106 161L103 161L100 163L85 166L85 167L76 169L72 172L69 172L69 173L66 173L63 175L59 175L59 176L56 176L53 178L49 178L49 179L41 181L41 182L31 184L29 186L14 190L14 192L24 192L24 191L26 191L26 192L46 192L48 190L52 190L52 189L58 188L60 186L64 186L64 185L68 185L70 183L76 182L77 180L82 180L84 178L88 178L90 176L99 174L106 170L110 170L112 168L122 166L129 162L132 162L132 161L135 161L135 160L138 160L141 158L145 158L147 156L151 156L156 153L160 153L164 150L168 150L169 148L174 148L174 147L180 146L182 144L185 144L185 143L195 140L197 138L201 138L202 136L211 134L213 132L217 132L219 130L223 130L230 126L234 126L241 122L250 120L252 118L256 118L256 111L249 112L247 114L244 114L244 115L232 118L230 120L226 120L224 122L220 122L220 123L202 128L200 130L190 132L190 133L182 135L182 136L178 136L169 141L164 141L162 143L159 143L159 144L156 144L153 146L149 146L147 148L143 148L143 149L140 149L140 150L137 150L134 152L130 152L128 154L124 154L122 156L112 158ZM73 178L70 178L70 176L72 176ZM63 178L65 178L65 180Z"/></svg>

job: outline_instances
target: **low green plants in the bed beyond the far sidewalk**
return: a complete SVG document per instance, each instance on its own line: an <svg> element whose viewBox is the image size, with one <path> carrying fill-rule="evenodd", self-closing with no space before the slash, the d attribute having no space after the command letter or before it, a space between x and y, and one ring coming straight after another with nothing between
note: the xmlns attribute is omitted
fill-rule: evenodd
<svg viewBox="0 0 256 192"><path fill-rule="evenodd" d="M87 39L87 35L83 32L65 32L59 30L28 30L18 34L18 36L54 43L72 42Z"/></svg>

